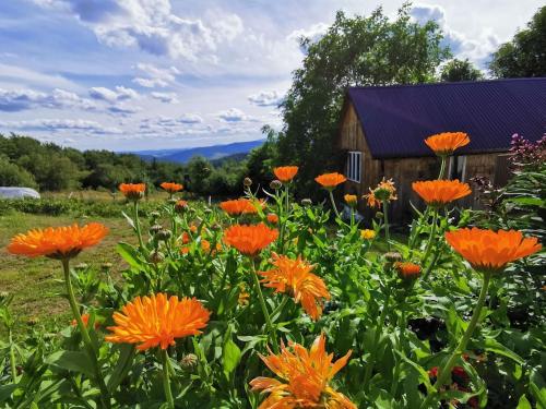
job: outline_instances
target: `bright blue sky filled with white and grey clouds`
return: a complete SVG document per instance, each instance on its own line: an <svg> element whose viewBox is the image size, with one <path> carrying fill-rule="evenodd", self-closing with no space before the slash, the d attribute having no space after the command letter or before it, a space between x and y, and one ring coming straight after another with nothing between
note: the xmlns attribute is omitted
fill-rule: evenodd
<svg viewBox="0 0 546 409"><path fill-rule="evenodd" d="M277 105L337 10L402 1L0 0L0 133L79 149L188 148L282 127ZM486 68L543 0L414 2L458 58Z"/></svg>

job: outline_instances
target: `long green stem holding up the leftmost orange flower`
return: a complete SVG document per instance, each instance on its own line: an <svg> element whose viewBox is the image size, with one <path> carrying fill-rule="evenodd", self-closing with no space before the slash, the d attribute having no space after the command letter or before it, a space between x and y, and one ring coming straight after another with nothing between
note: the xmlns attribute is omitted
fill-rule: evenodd
<svg viewBox="0 0 546 409"><path fill-rule="evenodd" d="M93 364L93 371L95 372L95 382L98 384L100 389L100 401L103 407L110 408L110 398L108 394L108 388L104 382L103 374L100 373L100 369L98 368L97 362L97 351L91 340L90 333L87 332L87 327L83 323L82 315L80 314L80 310L78 309L78 303L75 301L74 290L72 289L72 282L70 279L70 265L69 258L62 260L62 269L64 273L64 284L67 285L67 293L70 303L70 309L72 310L72 315L78 323L78 328L82 334L83 342L85 344L85 349L87 350L87 354L90 356L91 362Z"/></svg>

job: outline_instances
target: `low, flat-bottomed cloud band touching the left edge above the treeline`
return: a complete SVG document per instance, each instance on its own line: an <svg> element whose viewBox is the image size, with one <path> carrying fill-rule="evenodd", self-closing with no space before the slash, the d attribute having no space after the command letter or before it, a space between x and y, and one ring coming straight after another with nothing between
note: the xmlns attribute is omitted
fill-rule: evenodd
<svg viewBox="0 0 546 409"><path fill-rule="evenodd" d="M56 88L50 94L33 89L0 88L0 111L16 112L33 108L79 108L96 110L95 103L81 98L78 94Z"/></svg>

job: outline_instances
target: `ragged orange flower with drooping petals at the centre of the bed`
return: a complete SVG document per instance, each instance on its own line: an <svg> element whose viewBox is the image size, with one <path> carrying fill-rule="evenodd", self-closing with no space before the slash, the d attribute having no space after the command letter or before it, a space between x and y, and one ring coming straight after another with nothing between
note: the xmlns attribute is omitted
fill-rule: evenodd
<svg viewBox="0 0 546 409"><path fill-rule="evenodd" d="M309 316L317 321L322 314L323 300L330 300L330 292L322 278L311 273L312 265L301 260L301 256L292 260L275 253L272 264L275 268L260 272L264 277L261 280L264 287L294 297L294 302L301 303Z"/></svg>

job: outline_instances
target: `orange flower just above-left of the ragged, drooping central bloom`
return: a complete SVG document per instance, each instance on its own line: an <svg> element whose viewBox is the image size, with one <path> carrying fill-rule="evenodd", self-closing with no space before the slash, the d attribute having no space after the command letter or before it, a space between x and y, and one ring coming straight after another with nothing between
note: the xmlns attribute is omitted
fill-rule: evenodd
<svg viewBox="0 0 546 409"><path fill-rule="evenodd" d="M235 225L226 229L224 241L242 254L253 256L275 241L277 236L277 229L270 229L263 222L250 226Z"/></svg>

